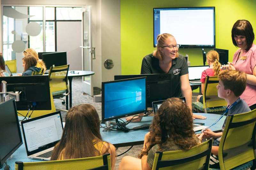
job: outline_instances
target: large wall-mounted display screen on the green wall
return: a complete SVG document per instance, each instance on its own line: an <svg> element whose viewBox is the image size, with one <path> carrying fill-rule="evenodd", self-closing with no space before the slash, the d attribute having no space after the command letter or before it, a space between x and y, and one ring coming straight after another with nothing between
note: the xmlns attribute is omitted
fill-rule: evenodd
<svg viewBox="0 0 256 170"><path fill-rule="evenodd" d="M215 48L215 7L154 8L153 21L154 47L170 33L180 48Z"/></svg>

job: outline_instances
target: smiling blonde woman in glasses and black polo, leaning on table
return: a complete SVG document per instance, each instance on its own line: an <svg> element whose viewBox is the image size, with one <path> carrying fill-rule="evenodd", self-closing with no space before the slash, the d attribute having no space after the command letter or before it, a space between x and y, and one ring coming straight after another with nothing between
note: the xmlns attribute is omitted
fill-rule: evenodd
<svg viewBox="0 0 256 170"><path fill-rule="evenodd" d="M192 90L189 84L188 64L185 57L178 53L177 44L173 35L169 33L157 36L157 50L145 56L142 60L141 74L172 74L174 97L186 98L186 103L192 112ZM193 114L194 118L206 117Z"/></svg>

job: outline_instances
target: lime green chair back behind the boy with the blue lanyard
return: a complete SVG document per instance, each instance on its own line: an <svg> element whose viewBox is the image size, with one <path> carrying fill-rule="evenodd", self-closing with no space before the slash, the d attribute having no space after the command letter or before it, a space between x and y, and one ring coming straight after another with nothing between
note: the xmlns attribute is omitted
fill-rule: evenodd
<svg viewBox="0 0 256 170"><path fill-rule="evenodd" d="M232 169L255 159L255 123L256 110L227 116L219 145L221 169Z"/></svg>

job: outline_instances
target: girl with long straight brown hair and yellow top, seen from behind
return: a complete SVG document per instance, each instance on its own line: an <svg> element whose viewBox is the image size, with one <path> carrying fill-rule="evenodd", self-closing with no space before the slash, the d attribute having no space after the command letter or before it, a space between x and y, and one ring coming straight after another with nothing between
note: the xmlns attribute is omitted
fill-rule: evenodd
<svg viewBox="0 0 256 170"><path fill-rule="evenodd" d="M90 104L72 107L66 115L66 123L60 141L55 145L51 160L77 159L111 154L112 169L115 165L115 147L102 141L100 120Z"/></svg>

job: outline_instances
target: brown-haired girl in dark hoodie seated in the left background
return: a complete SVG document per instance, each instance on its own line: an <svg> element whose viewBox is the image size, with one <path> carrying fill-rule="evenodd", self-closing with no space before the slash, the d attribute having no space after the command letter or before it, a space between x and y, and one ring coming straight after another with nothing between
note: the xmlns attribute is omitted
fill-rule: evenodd
<svg viewBox="0 0 256 170"><path fill-rule="evenodd" d="M23 57L22 61L23 61L22 66L24 67L22 76L23 75L32 75L33 71L41 70L41 68L35 67L37 64L37 60L32 55L27 55L27 56Z"/></svg>

